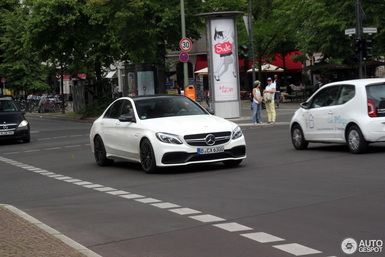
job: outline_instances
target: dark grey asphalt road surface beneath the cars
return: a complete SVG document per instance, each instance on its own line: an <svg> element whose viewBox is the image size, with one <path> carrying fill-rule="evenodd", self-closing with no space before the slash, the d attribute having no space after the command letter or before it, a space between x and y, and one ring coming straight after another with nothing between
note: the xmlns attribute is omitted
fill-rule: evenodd
<svg viewBox="0 0 385 257"><path fill-rule="evenodd" d="M129 162L97 166L90 122L27 118L31 142L0 143L0 156L52 173L0 162L0 203L103 257L338 257L345 256L340 244L346 237L385 241L384 143L362 155L335 144L298 151L284 118L256 126L238 119L247 142L239 166L146 174ZM87 188L84 181L138 196Z"/></svg>

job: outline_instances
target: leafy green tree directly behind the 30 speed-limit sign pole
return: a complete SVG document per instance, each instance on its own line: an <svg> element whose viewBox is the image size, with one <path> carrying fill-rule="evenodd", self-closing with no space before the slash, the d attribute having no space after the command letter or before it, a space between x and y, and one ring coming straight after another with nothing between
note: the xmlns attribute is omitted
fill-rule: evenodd
<svg viewBox="0 0 385 257"><path fill-rule="evenodd" d="M122 1L117 12L121 18L116 26L122 49L132 63L155 64L158 93L165 93L166 74L170 69L167 54L180 50L182 39L180 0L167 0L161 4L152 0L137 1L134 14L128 6L130 3ZM204 28L201 20L194 16L201 13L203 4L202 1L184 1L186 37L192 40L199 39L199 32Z"/></svg>

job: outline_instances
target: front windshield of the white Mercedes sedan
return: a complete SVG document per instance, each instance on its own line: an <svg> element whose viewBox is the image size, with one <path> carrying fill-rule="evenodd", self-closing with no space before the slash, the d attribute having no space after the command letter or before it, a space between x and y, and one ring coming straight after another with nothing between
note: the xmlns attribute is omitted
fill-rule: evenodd
<svg viewBox="0 0 385 257"><path fill-rule="evenodd" d="M135 103L141 120L207 114L200 105L186 97L144 98Z"/></svg>

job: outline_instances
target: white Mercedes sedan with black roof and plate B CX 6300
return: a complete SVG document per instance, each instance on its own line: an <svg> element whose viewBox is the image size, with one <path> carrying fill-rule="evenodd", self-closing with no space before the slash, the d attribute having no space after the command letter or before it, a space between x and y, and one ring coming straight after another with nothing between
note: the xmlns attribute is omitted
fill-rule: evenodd
<svg viewBox="0 0 385 257"><path fill-rule="evenodd" d="M99 166L114 160L156 167L246 158L246 143L235 123L211 115L183 95L144 95L115 100L92 124L90 143Z"/></svg>

